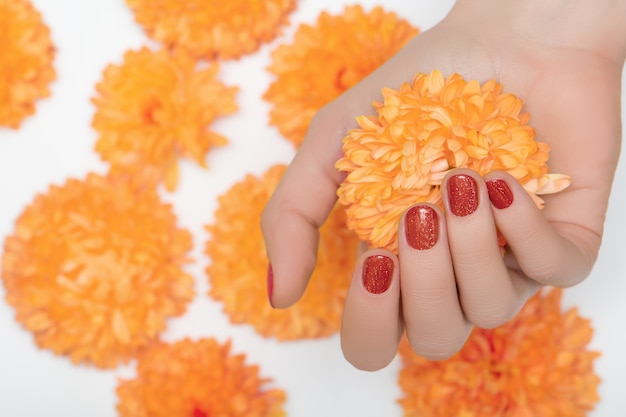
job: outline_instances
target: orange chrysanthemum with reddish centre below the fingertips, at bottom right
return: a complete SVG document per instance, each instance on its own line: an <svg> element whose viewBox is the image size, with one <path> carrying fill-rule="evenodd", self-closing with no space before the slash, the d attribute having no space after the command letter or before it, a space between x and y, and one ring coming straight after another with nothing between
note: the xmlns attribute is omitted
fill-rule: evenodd
<svg viewBox="0 0 626 417"><path fill-rule="evenodd" d="M474 329L450 359L415 355L406 339L400 404L404 417L583 417L598 402L593 329L562 291L539 293L507 324Z"/></svg>

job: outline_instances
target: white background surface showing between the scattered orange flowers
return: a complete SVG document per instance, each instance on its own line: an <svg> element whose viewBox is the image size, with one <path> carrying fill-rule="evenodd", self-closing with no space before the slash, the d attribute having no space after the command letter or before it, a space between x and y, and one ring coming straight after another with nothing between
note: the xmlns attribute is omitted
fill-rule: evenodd
<svg viewBox="0 0 626 417"><path fill-rule="evenodd" d="M33 0L51 27L58 48L58 80L52 97L40 101L37 114L19 131L0 129L0 242L13 231L13 222L35 193L68 177L82 178L89 171L105 172L93 144L90 128L93 106L89 98L108 63L120 63L124 51L148 43L134 23L123 0ZM371 6L375 1L361 0ZM394 0L384 3L415 25L426 29L441 19L450 5L445 1ZM288 394L286 410L297 417L400 416L395 400L398 362L377 373L360 372L342 357L338 337L322 341L278 344L257 336L247 326L232 326L221 306L205 295L206 239L203 225L212 221L216 196L246 172L260 174L276 162L288 162L293 150L267 124L267 103L261 95L271 78L264 68L269 53L290 38L301 22L312 23L322 9L339 12L345 1L302 0L291 16L284 36L256 54L222 65L221 77L238 85L240 111L224 118L215 129L230 144L212 151L210 169L181 164L176 193L165 198L174 204L180 225L195 236L192 256L198 260L188 270L195 276L198 296L181 318L172 320L165 338L214 336L233 339L233 350L248 355L264 376ZM623 100L626 95L622 93ZM622 113L626 120L626 112ZM236 163L235 163L236 162ZM566 293L566 304L576 305L592 319L592 347L602 351L596 362L603 379L602 401L594 417L626 415L626 336L620 317L626 314L626 167L617 173L606 233L591 277ZM115 371L76 367L65 358L39 350L30 333L13 319L0 286L0 416L1 417L112 417L116 415L115 387L119 377L132 375L132 366ZM447 417L447 416L442 416Z"/></svg>

